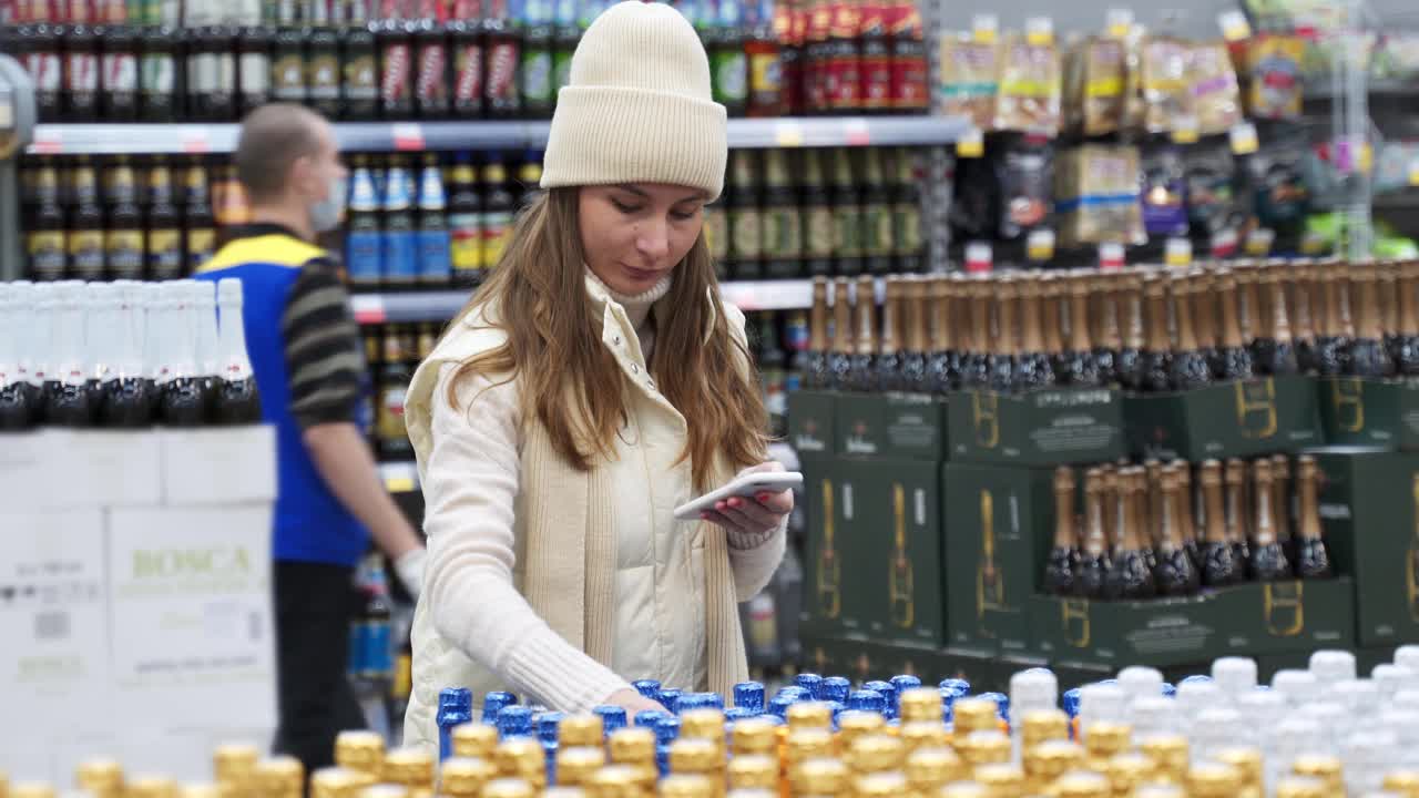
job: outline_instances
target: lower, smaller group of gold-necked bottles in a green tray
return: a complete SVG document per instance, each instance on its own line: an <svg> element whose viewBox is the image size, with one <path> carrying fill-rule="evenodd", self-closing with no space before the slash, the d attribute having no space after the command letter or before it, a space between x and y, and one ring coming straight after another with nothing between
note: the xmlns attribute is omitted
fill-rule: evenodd
<svg viewBox="0 0 1419 798"><path fill-rule="evenodd" d="M1332 574L1321 534L1315 459L1183 460L1054 471L1054 545L1044 592L1137 601L1246 581ZM1296 523L1293 524L1293 518Z"/></svg>

